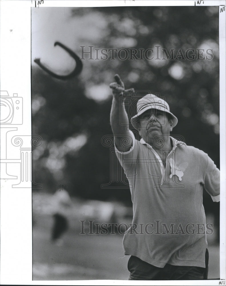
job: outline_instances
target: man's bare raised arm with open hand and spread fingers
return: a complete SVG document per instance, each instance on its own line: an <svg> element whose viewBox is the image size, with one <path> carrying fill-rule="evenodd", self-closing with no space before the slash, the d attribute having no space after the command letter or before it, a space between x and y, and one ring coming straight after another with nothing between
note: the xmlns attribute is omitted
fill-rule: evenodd
<svg viewBox="0 0 226 286"><path fill-rule="evenodd" d="M134 89L125 90L124 84L117 74L115 75L115 81L116 82L110 84L113 94L110 116L111 128L114 134L116 147L119 149L123 148L123 152L127 152L130 150L133 142L128 130L128 115L125 111L125 106L123 104L120 105L120 97L123 95L123 92L134 92ZM120 122L123 124L120 124ZM122 145L124 139L129 140L129 144L126 144L126 146Z"/></svg>

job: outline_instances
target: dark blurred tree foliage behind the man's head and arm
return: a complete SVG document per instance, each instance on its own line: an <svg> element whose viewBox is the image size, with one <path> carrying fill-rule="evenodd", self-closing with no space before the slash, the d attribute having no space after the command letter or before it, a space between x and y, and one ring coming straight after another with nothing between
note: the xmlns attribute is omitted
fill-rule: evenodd
<svg viewBox="0 0 226 286"><path fill-rule="evenodd" d="M101 138L112 135L109 124L115 73L127 88L160 93L178 117L173 134L180 134L219 167L219 50L218 7L92 7L74 8L71 17L80 28L89 19L92 33L79 45L97 49L213 49L211 60L88 60L77 78L61 82L32 67L33 134L43 137L35 150L35 181L54 192L67 184L71 194L84 198L117 198L130 203L120 187L101 189L110 181L110 150ZM92 22L93 21L93 22ZM75 31L76 33L76 31ZM95 55L94 55L95 57ZM128 110L129 111L129 110ZM41 151L40 151L41 150ZM204 206L217 204L206 192Z"/></svg>

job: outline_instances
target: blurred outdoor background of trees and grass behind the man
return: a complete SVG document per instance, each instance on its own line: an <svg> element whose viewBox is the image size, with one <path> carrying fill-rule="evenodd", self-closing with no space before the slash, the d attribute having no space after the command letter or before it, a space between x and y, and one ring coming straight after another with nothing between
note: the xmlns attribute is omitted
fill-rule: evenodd
<svg viewBox="0 0 226 286"><path fill-rule="evenodd" d="M33 279L128 279L123 235L79 235L80 220L131 223L128 182L104 136L110 126L111 90L118 73L126 88L160 93L178 118L173 135L206 152L219 168L218 6L43 8L32 12ZM89 59L76 77L51 77L35 62L66 75L94 49L212 49L211 60ZM204 56L205 56L204 52ZM123 54L122 54L123 56ZM160 54L161 56L161 54ZM132 129L132 128L131 128ZM134 129L132 129L134 131ZM112 138L112 137L111 137ZM111 140L109 141L111 142ZM119 168L111 173L112 164ZM203 192L210 252L209 278L219 277L219 204Z"/></svg>

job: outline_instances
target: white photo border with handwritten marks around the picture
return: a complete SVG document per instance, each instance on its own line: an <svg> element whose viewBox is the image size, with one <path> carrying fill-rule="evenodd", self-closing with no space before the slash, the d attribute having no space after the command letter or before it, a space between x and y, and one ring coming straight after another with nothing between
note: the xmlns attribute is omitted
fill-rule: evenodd
<svg viewBox="0 0 226 286"><path fill-rule="evenodd" d="M42 1L41 1L42 2ZM104 6L194 6L194 0L141 1L141 0L35 0L0 1L0 80L1 90L9 95L23 97L23 124L15 125L17 136L31 140L31 7L104 7ZM226 57L225 57L225 0L201 1L203 6L219 6L219 54L220 54L220 279L205 281L167 281L167 285L225 285L226 278ZM39 7L38 7L39 6ZM198 9L198 7L197 7ZM15 130L15 128L17 128ZM5 131L5 130L3 130ZM8 130L10 131L10 130ZM13 131L13 130L12 130ZM1 142L4 132L1 129ZM6 139L5 139L6 140ZM7 141L6 141L7 145ZM28 146L30 147L30 146ZM1 151L1 158L5 155ZM18 154L19 156L19 154ZM18 164L11 170L19 175ZM2 172L2 171L1 171ZM1 173L2 175L2 173ZM31 184L24 188L12 188L10 179L1 180L1 257L0 281L6 285L141 285L141 282L124 280L88 281L32 281L32 206ZM142 285L164 285L163 281L142 281Z"/></svg>

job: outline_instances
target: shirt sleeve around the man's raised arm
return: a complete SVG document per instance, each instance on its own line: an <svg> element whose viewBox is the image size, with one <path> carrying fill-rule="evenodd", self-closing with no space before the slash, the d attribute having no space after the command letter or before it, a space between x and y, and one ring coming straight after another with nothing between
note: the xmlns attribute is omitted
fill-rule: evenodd
<svg viewBox="0 0 226 286"><path fill-rule="evenodd" d="M116 156L125 171L131 169L131 167L136 164L138 154L138 141L135 139L133 132L131 130L129 130L129 132L133 141L130 150L127 152L121 152L115 146Z"/></svg>

